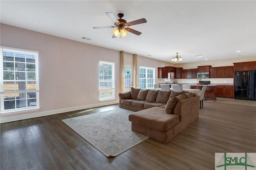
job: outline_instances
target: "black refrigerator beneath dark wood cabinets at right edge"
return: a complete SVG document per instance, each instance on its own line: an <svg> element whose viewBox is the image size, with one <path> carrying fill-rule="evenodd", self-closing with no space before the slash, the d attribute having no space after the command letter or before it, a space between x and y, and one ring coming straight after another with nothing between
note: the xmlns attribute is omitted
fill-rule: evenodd
<svg viewBox="0 0 256 170"><path fill-rule="evenodd" d="M256 71L235 71L234 98L256 100Z"/></svg>

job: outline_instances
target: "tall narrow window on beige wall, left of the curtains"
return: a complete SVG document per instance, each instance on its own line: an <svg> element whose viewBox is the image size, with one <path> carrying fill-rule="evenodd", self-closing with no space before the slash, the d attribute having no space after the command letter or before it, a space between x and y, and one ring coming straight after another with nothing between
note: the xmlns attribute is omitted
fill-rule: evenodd
<svg viewBox="0 0 256 170"><path fill-rule="evenodd" d="M114 63L100 61L100 100L114 99Z"/></svg>

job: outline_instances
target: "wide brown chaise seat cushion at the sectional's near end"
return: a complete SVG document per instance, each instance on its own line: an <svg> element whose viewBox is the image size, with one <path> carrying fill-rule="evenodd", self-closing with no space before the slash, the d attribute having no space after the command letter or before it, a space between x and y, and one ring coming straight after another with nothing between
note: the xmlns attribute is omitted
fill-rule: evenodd
<svg viewBox="0 0 256 170"><path fill-rule="evenodd" d="M165 114L162 107L152 107L132 113L129 115L129 121L163 132L180 123L178 115Z"/></svg>

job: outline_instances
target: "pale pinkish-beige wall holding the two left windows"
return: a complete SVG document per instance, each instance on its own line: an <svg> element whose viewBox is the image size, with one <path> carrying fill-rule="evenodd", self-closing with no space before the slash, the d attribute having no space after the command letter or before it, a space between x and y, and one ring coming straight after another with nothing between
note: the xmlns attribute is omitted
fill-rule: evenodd
<svg viewBox="0 0 256 170"><path fill-rule="evenodd" d="M120 51L1 24L1 46L39 51L40 109L1 122L118 103ZM115 99L99 101L99 61L115 62Z"/></svg>

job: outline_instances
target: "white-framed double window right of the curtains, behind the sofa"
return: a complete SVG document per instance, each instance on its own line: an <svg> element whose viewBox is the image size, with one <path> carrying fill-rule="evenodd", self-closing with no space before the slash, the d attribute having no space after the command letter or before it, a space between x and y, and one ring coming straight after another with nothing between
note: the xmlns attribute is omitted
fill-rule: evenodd
<svg viewBox="0 0 256 170"><path fill-rule="evenodd" d="M139 70L139 88L152 89L154 88L155 69L149 67L140 67Z"/></svg>

